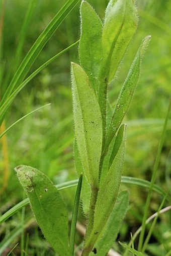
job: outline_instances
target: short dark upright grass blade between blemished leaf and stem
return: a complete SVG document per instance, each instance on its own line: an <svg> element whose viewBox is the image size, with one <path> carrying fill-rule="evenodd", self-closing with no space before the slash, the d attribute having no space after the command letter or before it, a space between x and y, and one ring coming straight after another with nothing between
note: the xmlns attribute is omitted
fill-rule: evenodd
<svg viewBox="0 0 171 256"><path fill-rule="evenodd" d="M75 194L75 201L73 206L71 228L70 228L70 256L74 256L74 240L75 240L76 220L78 215L81 186L82 186L82 174L80 174L80 177L78 180L78 185L77 185L76 194Z"/></svg>

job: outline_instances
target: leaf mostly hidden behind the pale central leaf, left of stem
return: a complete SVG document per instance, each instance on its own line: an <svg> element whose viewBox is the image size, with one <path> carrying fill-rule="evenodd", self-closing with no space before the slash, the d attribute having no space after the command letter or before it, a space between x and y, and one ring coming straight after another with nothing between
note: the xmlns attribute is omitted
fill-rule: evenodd
<svg viewBox="0 0 171 256"><path fill-rule="evenodd" d="M77 175L80 176L81 173L84 174L76 140L74 141L74 162L75 162L75 169L76 169ZM83 175L82 188L81 188L81 201L82 201L82 209L85 215L88 215L89 213L90 197L91 197L90 184L88 183L86 176Z"/></svg>

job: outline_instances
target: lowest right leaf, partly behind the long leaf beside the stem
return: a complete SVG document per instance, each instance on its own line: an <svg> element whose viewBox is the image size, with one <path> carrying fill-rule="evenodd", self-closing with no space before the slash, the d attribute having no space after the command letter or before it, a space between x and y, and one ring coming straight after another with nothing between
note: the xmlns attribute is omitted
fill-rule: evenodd
<svg viewBox="0 0 171 256"><path fill-rule="evenodd" d="M121 228L123 219L128 208L129 195L127 191L122 191L117 198L113 211L109 217L109 220L103 228L94 248L96 248L97 256L105 256L112 247L112 244L116 240L117 234ZM90 253L93 256L94 253Z"/></svg>

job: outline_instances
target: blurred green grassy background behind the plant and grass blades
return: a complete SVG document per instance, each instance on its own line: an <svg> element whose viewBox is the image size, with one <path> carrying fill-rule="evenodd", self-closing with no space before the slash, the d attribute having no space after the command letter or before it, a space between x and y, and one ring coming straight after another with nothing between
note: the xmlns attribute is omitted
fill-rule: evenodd
<svg viewBox="0 0 171 256"><path fill-rule="evenodd" d="M1 8L1 98L6 91L18 64L25 57L35 40L51 21L54 15L66 2L64 0L37 1L18 63L13 58L19 42L21 27L26 16L29 0L0 0ZM88 1L103 20L108 1ZM124 122L127 123L127 144L125 155L124 176L131 176L150 181L157 146L161 137L164 118L170 101L171 80L171 2L168 0L137 0L139 26L137 32L122 61L117 79L109 86L109 99L115 106L116 99L128 73L141 40L151 35L151 42L142 63L141 77ZM4 16L3 16L4 13ZM3 21L3 22L2 22ZM80 21L79 5L76 6L57 29L55 34L43 48L29 73L79 39ZM48 175L55 183L76 179L73 161L73 121L72 98L70 86L70 62L79 62L77 46L61 55L53 63L44 68L15 99L5 117L5 125L9 127L22 116L32 110L51 103L40 111L25 118L7 133L6 147L0 144L0 214L3 214L23 197L14 167L20 164L34 166ZM1 139L2 141L2 139ZM171 120L169 116L164 145L161 152L156 184L163 190L170 188L171 166ZM6 156L6 157L5 157ZM8 169L9 180L4 187L4 169ZM130 232L134 233L140 226L147 190L133 185L122 185L130 193L130 207L123 223L118 239L129 241ZM75 188L62 192L70 215L74 200ZM149 215L158 210L162 198L153 193ZM166 204L167 205L167 204ZM26 216L31 216L29 207ZM20 213L14 215L6 225L0 227L0 241L7 232L12 230L20 221ZM79 212L79 220L84 218ZM164 241L166 248L171 249L171 217L169 213L160 216L155 234L149 244L149 255L161 254L160 243ZM156 232L157 231L157 232ZM36 224L33 222L25 231L30 234L33 255L34 248L48 246L41 239ZM77 243L81 238L77 234ZM16 236L11 246L20 241ZM39 242L35 242L39 241ZM37 245L35 245L37 244ZM114 244L115 249L118 244ZM10 246L9 246L10 247ZM11 247L10 247L11 248ZM46 247L47 249L47 247ZM29 250L28 250L29 251ZM15 255L20 255L19 248ZM28 252L29 253L29 252ZM52 251L46 255L54 255ZM157 254L159 253L159 254ZM7 255L7 254L4 254ZM41 254L43 255L43 254Z"/></svg>

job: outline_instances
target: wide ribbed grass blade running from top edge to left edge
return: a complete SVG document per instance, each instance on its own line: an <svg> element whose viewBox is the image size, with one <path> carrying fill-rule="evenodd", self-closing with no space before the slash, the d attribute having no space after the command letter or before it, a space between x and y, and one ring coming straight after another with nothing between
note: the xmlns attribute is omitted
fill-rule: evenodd
<svg viewBox="0 0 171 256"><path fill-rule="evenodd" d="M68 0L65 5L59 10L59 12L55 15L55 17L52 19L52 21L47 25L47 27L44 29L42 34L38 37L36 42L33 44L29 52L27 53L26 57L22 61L21 65L17 69L1 103L0 106L4 104L4 102L9 98L11 93L14 89L16 89L25 78L26 74L28 73L30 67L36 60L37 56L45 46L45 44L48 42L48 40L51 38L51 36L54 34L56 29L59 27L59 25L62 23L62 21L66 18L66 16L70 13L70 11L75 7L75 5L79 2L79 0ZM1 122L3 120L4 114L1 116Z"/></svg>

